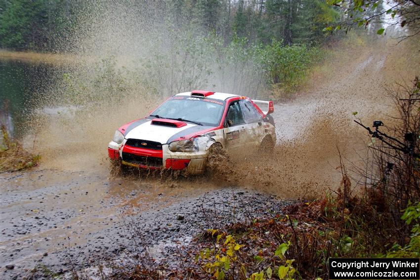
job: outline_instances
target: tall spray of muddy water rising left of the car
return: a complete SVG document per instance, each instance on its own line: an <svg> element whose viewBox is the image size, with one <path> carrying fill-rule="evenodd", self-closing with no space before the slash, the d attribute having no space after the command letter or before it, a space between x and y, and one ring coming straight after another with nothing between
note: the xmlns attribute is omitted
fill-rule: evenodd
<svg viewBox="0 0 420 280"><path fill-rule="evenodd" d="M234 77L261 78L238 65L211 73L215 59L200 49L201 30L185 26L182 16L158 2L86 3L78 11L69 46L74 61L57 68L48 89L31 101L35 110L24 128L26 147L42 155L42 168L107 174L107 143L122 124L183 90L240 91L245 83L236 86Z"/></svg>

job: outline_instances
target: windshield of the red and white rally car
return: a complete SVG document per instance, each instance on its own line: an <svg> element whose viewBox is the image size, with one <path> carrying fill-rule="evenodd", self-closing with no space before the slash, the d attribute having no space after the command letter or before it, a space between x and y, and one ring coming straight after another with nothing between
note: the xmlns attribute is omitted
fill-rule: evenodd
<svg viewBox="0 0 420 280"><path fill-rule="evenodd" d="M223 114L224 104L224 101L211 98L173 96L153 111L151 116L217 126Z"/></svg>

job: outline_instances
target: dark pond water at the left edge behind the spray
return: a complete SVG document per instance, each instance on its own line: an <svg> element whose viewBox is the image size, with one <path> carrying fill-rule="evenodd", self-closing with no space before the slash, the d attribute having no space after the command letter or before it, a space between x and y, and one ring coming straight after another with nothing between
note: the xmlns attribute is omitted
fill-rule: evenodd
<svg viewBox="0 0 420 280"><path fill-rule="evenodd" d="M0 59L0 123L22 136L30 113L51 87L57 68L50 64Z"/></svg>

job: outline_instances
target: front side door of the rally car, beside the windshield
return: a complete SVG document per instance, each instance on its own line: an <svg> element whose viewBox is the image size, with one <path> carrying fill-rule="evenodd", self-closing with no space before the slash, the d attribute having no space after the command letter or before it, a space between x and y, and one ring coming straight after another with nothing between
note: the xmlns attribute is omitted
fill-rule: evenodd
<svg viewBox="0 0 420 280"><path fill-rule="evenodd" d="M229 104L224 121L224 142L227 149L237 151L246 143L246 123L241 104L233 101Z"/></svg>

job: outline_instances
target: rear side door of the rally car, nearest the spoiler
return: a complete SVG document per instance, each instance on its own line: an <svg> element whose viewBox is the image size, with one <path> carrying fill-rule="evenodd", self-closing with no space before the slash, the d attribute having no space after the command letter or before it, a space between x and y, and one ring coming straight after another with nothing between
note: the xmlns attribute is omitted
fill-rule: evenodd
<svg viewBox="0 0 420 280"><path fill-rule="evenodd" d="M262 138L264 136L264 125L262 116L255 109L255 106L250 100L244 99L239 102L241 104L242 112L245 120L245 132L247 143L250 148L258 149Z"/></svg>

